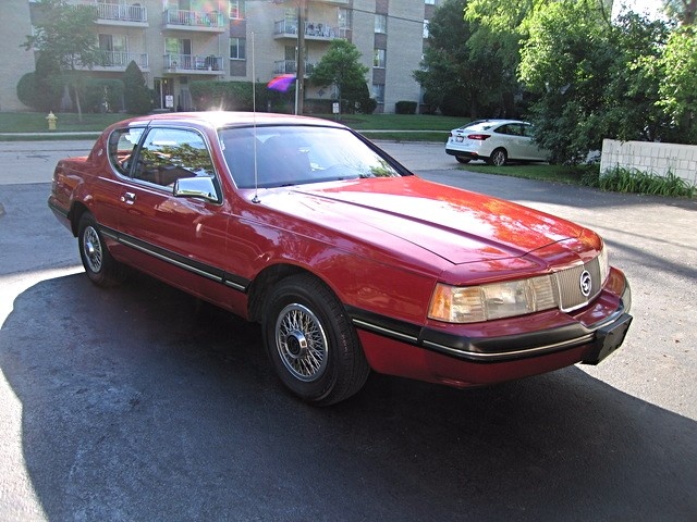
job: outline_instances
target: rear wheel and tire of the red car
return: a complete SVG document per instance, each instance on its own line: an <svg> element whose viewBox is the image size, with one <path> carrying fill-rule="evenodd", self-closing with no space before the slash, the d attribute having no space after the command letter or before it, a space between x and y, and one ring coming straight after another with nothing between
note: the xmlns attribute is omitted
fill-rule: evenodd
<svg viewBox="0 0 697 522"><path fill-rule="evenodd" d="M77 244L80 259L89 281L101 287L115 286L123 282L125 270L111 257L97 221L89 212L85 212L80 219Z"/></svg>

